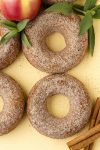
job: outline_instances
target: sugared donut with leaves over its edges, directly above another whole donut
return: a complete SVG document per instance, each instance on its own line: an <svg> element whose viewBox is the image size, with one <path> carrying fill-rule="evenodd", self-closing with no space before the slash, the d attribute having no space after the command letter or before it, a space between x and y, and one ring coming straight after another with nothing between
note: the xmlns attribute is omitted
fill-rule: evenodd
<svg viewBox="0 0 100 150"><path fill-rule="evenodd" d="M79 36L80 21L76 14L64 16L51 12L39 15L25 29L32 44L31 48L23 47L28 61L39 70L50 74L63 73L79 64L88 46L88 34ZM60 52L49 50L44 40L53 32L59 32L65 38L66 47Z"/></svg>

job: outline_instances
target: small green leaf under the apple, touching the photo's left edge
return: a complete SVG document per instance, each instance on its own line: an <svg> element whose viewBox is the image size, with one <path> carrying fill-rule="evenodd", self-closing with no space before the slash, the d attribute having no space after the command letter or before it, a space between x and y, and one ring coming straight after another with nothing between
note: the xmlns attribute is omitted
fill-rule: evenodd
<svg viewBox="0 0 100 150"><path fill-rule="evenodd" d="M6 26L8 29L15 29L16 28L16 23L9 21L9 20L0 20L0 24L3 24Z"/></svg>

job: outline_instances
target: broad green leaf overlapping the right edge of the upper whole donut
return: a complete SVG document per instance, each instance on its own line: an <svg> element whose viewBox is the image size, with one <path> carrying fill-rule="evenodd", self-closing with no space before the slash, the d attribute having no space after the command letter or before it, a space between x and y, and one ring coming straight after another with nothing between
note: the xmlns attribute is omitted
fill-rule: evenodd
<svg viewBox="0 0 100 150"><path fill-rule="evenodd" d="M86 13L83 20L80 23L80 34L88 31L88 29L93 25L93 18L91 12Z"/></svg>

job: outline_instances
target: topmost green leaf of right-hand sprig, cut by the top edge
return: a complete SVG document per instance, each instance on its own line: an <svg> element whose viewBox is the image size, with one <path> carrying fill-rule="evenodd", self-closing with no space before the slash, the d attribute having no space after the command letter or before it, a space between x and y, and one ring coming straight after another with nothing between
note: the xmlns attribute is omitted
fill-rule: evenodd
<svg viewBox="0 0 100 150"><path fill-rule="evenodd" d="M86 0L85 5L84 5L84 10L90 10L93 7L95 7L97 0Z"/></svg>

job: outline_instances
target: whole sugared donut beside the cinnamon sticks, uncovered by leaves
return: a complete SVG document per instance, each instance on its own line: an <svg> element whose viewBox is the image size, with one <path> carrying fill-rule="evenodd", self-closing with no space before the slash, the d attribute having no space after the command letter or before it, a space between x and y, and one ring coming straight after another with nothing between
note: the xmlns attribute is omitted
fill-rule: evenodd
<svg viewBox="0 0 100 150"><path fill-rule="evenodd" d="M48 112L46 99L55 94L69 98L70 109L63 118ZM91 101L84 85L73 76L49 75L32 88L27 114L32 126L41 134L51 138L66 138L85 127L91 114Z"/></svg>

